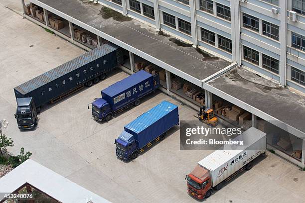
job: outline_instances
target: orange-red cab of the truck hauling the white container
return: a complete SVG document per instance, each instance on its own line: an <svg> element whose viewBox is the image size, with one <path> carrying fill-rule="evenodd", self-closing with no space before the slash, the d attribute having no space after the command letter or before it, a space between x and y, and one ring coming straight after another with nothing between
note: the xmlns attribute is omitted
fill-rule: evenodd
<svg viewBox="0 0 305 203"><path fill-rule="evenodd" d="M204 197L208 198L212 194L212 185L209 172L200 166L186 176L187 192L189 195L202 200Z"/></svg>

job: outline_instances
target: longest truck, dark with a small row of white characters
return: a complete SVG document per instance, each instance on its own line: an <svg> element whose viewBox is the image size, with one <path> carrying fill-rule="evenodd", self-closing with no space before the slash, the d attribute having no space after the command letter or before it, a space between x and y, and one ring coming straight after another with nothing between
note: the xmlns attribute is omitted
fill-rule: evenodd
<svg viewBox="0 0 305 203"><path fill-rule="evenodd" d="M107 72L123 63L122 48L104 44L15 87L18 128L35 128L41 105L56 102L85 85L90 87L104 80Z"/></svg>

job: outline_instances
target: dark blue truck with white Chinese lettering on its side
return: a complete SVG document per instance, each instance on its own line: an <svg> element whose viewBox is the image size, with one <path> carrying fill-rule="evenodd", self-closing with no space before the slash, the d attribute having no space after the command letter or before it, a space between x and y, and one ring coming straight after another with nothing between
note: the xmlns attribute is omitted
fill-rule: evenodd
<svg viewBox="0 0 305 203"><path fill-rule="evenodd" d="M160 86L159 74L139 71L101 91L102 98L92 102L92 116L98 121L109 121L113 115L132 106ZM89 105L88 105L89 108Z"/></svg>

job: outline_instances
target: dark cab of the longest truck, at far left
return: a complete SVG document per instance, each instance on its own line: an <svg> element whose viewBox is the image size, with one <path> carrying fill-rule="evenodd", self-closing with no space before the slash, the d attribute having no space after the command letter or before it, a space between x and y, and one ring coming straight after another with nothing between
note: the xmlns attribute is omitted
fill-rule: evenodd
<svg viewBox="0 0 305 203"><path fill-rule="evenodd" d="M37 110L32 97L16 98L15 118L19 129L33 129L37 126Z"/></svg>

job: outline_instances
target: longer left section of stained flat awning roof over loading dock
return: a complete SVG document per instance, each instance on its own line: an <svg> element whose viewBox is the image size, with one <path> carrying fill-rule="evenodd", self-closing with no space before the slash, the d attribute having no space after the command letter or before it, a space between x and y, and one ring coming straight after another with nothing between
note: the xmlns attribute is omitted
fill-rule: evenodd
<svg viewBox="0 0 305 203"><path fill-rule="evenodd" d="M31 2L199 87L202 87L202 80L231 64L199 48L194 48L191 44L156 32L153 27L138 20L130 18L126 21L117 21L112 17L105 17L107 13L101 10L103 6L100 4L86 4L79 0L31 0Z"/></svg>

